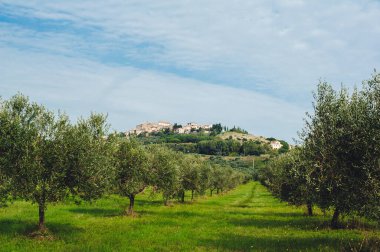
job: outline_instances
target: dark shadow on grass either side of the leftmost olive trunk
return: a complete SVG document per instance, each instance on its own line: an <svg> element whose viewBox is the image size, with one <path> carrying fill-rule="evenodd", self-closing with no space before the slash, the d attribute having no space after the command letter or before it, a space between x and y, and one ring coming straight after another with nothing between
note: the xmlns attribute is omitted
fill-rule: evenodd
<svg viewBox="0 0 380 252"><path fill-rule="evenodd" d="M46 222L46 227L53 236L64 237L73 233L82 232L82 228L74 227L69 223ZM37 222L2 219L0 220L0 234L11 236L28 236L38 230Z"/></svg>

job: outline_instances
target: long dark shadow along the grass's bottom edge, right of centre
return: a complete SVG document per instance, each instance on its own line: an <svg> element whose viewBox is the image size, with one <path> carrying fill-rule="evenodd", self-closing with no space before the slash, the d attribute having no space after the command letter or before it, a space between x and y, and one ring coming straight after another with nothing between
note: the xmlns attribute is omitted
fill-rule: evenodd
<svg viewBox="0 0 380 252"><path fill-rule="evenodd" d="M216 239L200 241L206 250L217 251L303 251L303 250L339 250L349 241L337 237L254 237L236 234L221 234ZM360 242L350 241L353 243Z"/></svg>

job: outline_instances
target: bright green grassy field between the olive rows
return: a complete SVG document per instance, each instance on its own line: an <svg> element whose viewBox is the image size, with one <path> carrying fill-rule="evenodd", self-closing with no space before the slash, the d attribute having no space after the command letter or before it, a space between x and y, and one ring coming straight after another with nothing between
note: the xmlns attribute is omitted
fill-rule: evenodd
<svg viewBox="0 0 380 252"><path fill-rule="evenodd" d="M366 246L366 237L380 237L368 225L331 230L329 216L306 217L304 209L279 202L256 182L169 207L159 197L139 195L136 217L121 216L126 203L113 196L92 204L50 206L46 218L54 238L37 240L28 235L36 227L37 207L16 202L0 208L0 250L343 251L363 241Z"/></svg>

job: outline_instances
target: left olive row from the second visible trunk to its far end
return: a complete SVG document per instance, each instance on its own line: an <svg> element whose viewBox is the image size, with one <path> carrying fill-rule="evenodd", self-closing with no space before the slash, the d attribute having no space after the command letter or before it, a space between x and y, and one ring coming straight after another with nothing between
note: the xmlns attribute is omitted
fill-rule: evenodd
<svg viewBox="0 0 380 252"><path fill-rule="evenodd" d="M173 198L185 201L186 191L204 195L217 193L243 182L244 175L229 167L211 165L195 156L162 146L141 146L137 141L119 140L116 151L115 192L129 198L126 214L133 213L135 197L151 186L161 192L164 204Z"/></svg>

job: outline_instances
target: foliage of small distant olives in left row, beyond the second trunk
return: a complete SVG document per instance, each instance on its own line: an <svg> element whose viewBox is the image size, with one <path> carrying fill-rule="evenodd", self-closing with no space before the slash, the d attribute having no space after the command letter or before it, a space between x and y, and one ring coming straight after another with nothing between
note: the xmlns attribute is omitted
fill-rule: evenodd
<svg viewBox="0 0 380 252"><path fill-rule="evenodd" d="M204 194L207 189L227 191L243 182L244 175L228 166L208 164L200 159L175 152L162 146L148 146L151 154L151 185L162 192L165 205L185 192Z"/></svg>

